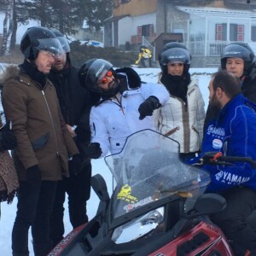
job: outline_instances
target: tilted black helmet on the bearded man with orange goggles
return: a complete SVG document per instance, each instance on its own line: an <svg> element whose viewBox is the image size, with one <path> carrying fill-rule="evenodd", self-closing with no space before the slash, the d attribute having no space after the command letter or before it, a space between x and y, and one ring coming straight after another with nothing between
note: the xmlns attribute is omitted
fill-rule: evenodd
<svg viewBox="0 0 256 256"><path fill-rule="evenodd" d="M118 92L118 83L114 89L102 90L97 84L99 79L102 79L108 71L112 71L115 77L115 72L113 70L113 65L103 59L90 59L85 61L82 67L79 69L79 80L80 83L90 91L96 92L103 97L111 97L116 95Z"/></svg>

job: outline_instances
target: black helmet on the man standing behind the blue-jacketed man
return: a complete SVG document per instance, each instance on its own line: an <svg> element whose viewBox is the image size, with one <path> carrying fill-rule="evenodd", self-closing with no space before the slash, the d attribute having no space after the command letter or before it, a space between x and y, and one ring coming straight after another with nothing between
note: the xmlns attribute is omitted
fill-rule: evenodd
<svg viewBox="0 0 256 256"><path fill-rule="evenodd" d="M247 74L253 64L253 49L246 43L237 42L228 44L220 57L221 68L226 69L227 58L240 58L244 61L244 74Z"/></svg>

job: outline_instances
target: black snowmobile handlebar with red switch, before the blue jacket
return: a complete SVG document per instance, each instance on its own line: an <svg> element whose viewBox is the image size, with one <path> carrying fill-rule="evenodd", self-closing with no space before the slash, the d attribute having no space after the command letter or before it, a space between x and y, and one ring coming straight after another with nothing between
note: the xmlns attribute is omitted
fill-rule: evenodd
<svg viewBox="0 0 256 256"><path fill-rule="evenodd" d="M256 168L256 161L247 156L226 156L221 152L207 152L200 160L199 165L225 165L233 166L232 162L247 162Z"/></svg>

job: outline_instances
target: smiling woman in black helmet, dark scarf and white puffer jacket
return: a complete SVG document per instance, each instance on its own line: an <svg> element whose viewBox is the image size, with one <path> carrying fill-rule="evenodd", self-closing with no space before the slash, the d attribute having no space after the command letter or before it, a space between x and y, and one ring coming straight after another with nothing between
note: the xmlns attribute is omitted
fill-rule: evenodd
<svg viewBox="0 0 256 256"><path fill-rule="evenodd" d="M169 43L160 54L160 84L169 91L165 106L158 110L159 131L180 143L182 160L201 150L205 119L204 101L197 81L190 79L190 55L183 44Z"/></svg>

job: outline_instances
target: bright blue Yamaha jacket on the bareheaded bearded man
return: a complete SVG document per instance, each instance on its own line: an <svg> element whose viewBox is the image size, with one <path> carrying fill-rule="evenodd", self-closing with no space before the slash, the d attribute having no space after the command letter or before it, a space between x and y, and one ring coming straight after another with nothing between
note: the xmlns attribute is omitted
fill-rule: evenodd
<svg viewBox="0 0 256 256"><path fill-rule="evenodd" d="M209 120L202 152L222 152L228 156L247 156L256 160L256 105L239 94L228 102L217 119ZM241 185L256 189L256 169L249 163L235 162L233 166L203 166L210 172L212 183L207 192L218 192Z"/></svg>

